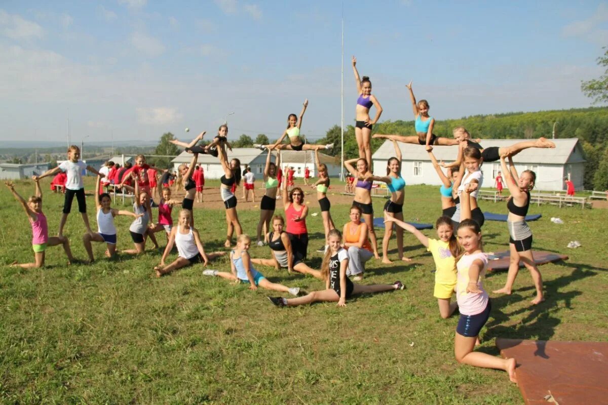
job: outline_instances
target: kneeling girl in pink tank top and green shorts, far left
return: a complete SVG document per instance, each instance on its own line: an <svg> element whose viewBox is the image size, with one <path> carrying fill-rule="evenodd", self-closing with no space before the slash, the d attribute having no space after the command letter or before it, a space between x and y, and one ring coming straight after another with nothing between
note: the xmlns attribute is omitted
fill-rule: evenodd
<svg viewBox="0 0 608 405"><path fill-rule="evenodd" d="M21 263L18 264L16 261L11 266L18 266L22 268L32 267L43 267L44 266L44 251L49 246L63 245L63 250L66 251L67 264L74 262L74 256L70 250L70 242L65 236L52 236L49 237L49 228L46 223L46 216L42 212L42 189L38 183L38 179L34 179L36 183L36 194L29 199L24 200L23 197L19 196L18 192L15 191L15 183L5 182L4 184L13 193L15 199L21 204L24 211L26 211L27 219L32 225L32 248L34 251L34 263Z"/></svg>

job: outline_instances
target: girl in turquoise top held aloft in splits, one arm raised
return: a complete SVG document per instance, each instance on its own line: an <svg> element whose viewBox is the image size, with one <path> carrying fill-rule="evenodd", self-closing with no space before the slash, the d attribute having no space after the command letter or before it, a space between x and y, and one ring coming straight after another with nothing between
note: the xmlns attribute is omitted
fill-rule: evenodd
<svg viewBox="0 0 608 405"><path fill-rule="evenodd" d="M416 103L416 97L412 90L412 82L406 84L407 89L410 92L410 100L412 101L412 111L414 113L414 128L416 129L416 135L402 136L402 135L381 135L376 134L374 138L385 138L390 140L396 140L403 143L413 143L414 145L426 145L427 151L432 151L432 145L458 145L458 141L455 139L438 137L433 134L433 128L435 126L435 118L429 115L429 102L426 100L420 100Z"/></svg>

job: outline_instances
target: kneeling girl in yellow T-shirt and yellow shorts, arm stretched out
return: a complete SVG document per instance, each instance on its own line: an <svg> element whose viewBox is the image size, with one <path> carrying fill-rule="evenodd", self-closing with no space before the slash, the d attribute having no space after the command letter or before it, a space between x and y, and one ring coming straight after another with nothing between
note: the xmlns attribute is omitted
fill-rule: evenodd
<svg viewBox="0 0 608 405"><path fill-rule="evenodd" d="M439 239L430 239L430 237L426 237L409 223L398 220L395 217L389 217L386 214L384 214L384 222L395 222L396 225L412 233L427 248L427 251L433 254L435 267L437 268L437 271L435 271L434 296L437 298L441 318L449 318L458 306L455 301L451 302L451 299L456 287L456 257L460 254L460 247L454 235L452 219L441 216L435 223Z"/></svg>

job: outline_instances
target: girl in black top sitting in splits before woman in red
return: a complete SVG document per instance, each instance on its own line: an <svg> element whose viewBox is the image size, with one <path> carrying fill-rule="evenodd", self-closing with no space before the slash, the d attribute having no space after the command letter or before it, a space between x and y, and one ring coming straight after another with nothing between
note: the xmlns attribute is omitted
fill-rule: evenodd
<svg viewBox="0 0 608 405"><path fill-rule="evenodd" d="M268 233L268 247L271 248L272 259L251 259L252 263L274 267L277 270L286 268L289 273L310 274L317 279L321 279L321 272L314 270L306 265L302 260L304 257L299 252L294 252L291 247L289 234L283 231L285 220L280 215L272 218L272 230Z"/></svg>

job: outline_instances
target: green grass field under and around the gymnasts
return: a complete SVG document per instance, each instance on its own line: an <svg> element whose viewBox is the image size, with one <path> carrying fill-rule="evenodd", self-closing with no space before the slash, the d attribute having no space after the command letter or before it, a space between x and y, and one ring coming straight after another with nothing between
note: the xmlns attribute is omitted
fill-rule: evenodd
<svg viewBox="0 0 608 405"><path fill-rule="evenodd" d="M45 179L46 180L46 179ZM91 179L88 179L91 180ZM212 184L208 184L210 186ZM32 182L20 182L22 196ZM44 212L55 233L63 199L44 182ZM91 190L91 182L87 184ZM406 220L434 223L441 213L436 187L408 186ZM27 197L26 197L27 198ZM331 196L330 196L331 199ZM87 198L95 227L92 198ZM381 213L384 199L374 199ZM277 204L278 208L282 205ZM505 203L480 202L506 213ZM338 227L347 205L333 205ZM314 202L311 211L319 211ZM565 252L570 260L540 267L547 301L532 307L527 271L513 295L492 297L491 317L478 350L497 355L494 338L607 341L608 211L532 206L543 218L531 222L534 248ZM156 217L156 211L154 211ZM259 213L241 211L246 233ZM432 296L432 257L406 234L412 264L368 262L365 284L401 280L405 291L359 296L334 303L275 308L264 290L249 291L201 267L153 277L161 253L102 258L93 265L65 265L60 247L47 250L47 268L6 265L33 259L26 216L5 188L0 192L0 398L2 403L60 404L519 404L519 390L506 373L460 366L454 359L457 316L442 320ZM174 210L174 219L176 210ZM549 221L561 217L564 225ZM223 210L195 209L206 250L223 249ZM308 217L309 264L321 262L320 216ZM131 248L130 219L119 217L119 248ZM424 231L435 236L435 231ZM76 203L66 226L76 257L85 259ZM505 250L506 223L486 222L486 251ZM161 234L157 234L161 235ZM381 237L382 230L379 230ZM381 239L381 238L380 238ZM582 247L569 250L570 240ZM159 237L164 242L164 236ZM395 240L392 259L396 260ZM268 247L252 247L269 257ZM174 257L174 256L172 256ZM228 270L226 258L210 268ZM271 281L306 291L320 281L258 267ZM502 287L506 273L486 278L486 290Z"/></svg>

